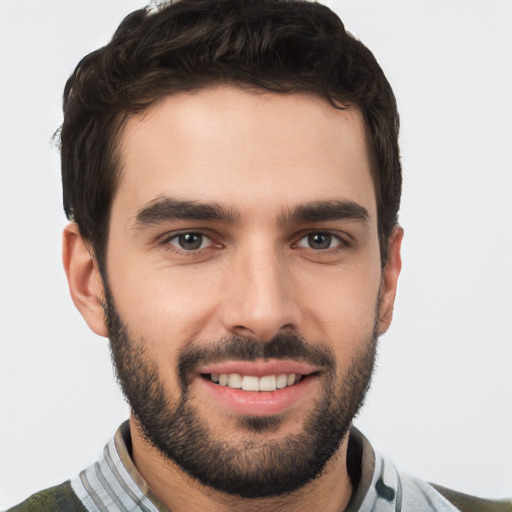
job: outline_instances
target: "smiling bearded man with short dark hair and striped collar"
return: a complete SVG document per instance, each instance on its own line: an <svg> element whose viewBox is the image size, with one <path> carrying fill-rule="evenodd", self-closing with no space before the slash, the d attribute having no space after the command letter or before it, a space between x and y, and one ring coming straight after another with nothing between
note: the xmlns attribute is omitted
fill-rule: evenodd
<svg viewBox="0 0 512 512"><path fill-rule="evenodd" d="M400 272L393 93L327 8L139 11L65 91L64 264L132 414L14 510L509 510L351 428ZM459 508L457 508L459 507Z"/></svg>

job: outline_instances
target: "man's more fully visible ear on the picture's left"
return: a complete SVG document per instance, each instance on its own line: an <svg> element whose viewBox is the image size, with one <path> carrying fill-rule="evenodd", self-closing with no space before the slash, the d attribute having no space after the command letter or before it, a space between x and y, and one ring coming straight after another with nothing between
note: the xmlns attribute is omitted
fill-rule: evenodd
<svg viewBox="0 0 512 512"><path fill-rule="evenodd" d="M64 229L62 242L62 260L71 298L92 331L106 337L103 282L93 252L74 222Z"/></svg>

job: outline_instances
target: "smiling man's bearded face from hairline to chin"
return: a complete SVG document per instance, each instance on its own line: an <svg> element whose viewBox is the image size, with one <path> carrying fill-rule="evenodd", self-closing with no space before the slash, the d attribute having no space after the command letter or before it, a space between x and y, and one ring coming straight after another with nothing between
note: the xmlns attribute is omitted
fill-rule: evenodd
<svg viewBox="0 0 512 512"><path fill-rule="evenodd" d="M392 307L360 114L216 87L131 118L120 152L106 310L139 426L219 490L293 490L339 448Z"/></svg>

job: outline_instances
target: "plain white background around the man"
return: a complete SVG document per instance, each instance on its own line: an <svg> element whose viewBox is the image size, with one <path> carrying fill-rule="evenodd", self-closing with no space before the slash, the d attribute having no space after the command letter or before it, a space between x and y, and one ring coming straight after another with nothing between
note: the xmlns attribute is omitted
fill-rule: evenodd
<svg viewBox="0 0 512 512"><path fill-rule="evenodd" d="M512 2L332 0L402 118L404 268L356 420L402 470L512 495ZM0 508L92 462L127 416L60 263L50 143L78 60L134 0L0 0Z"/></svg>

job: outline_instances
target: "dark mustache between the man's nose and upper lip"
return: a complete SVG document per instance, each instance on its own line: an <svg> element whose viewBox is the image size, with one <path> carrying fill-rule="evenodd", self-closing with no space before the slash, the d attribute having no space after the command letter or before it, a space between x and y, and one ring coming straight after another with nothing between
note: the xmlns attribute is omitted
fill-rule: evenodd
<svg viewBox="0 0 512 512"><path fill-rule="evenodd" d="M199 365L256 359L292 359L328 370L335 369L331 349L313 345L296 333L282 333L268 342L237 335L207 343L193 341L178 356L177 374L180 382L185 383Z"/></svg>

